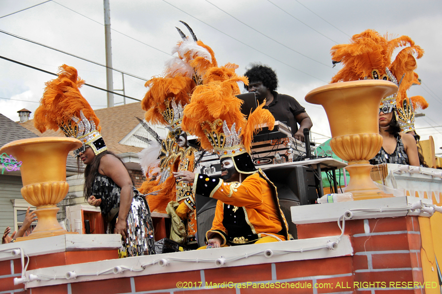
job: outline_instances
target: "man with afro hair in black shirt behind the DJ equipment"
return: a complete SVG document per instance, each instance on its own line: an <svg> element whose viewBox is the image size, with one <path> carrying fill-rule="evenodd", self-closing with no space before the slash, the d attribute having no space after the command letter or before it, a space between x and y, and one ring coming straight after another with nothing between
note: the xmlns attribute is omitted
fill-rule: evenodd
<svg viewBox="0 0 442 294"><path fill-rule="evenodd" d="M305 108L295 98L278 94L278 78L275 71L261 64L251 64L251 68L244 74L249 78L249 85L245 88L255 93L258 103L266 101L265 109L268 109L276 121L287 124L295 139L304 142L304 128L312 127L310 117ZM299 124L299 128L298 128Z"/></svg>

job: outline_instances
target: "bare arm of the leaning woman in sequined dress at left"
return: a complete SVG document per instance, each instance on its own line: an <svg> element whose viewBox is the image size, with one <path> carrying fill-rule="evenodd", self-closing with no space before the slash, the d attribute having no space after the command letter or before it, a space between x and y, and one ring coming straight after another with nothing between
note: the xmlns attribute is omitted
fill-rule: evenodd
<svg viewBox="0 0 442 294"><path fill-rule="evenodd" d="M127 215L131 208L133 194L132 180L123 163L116 157L106 154L100 160L98 168L100 174L110 177L118 187L120 192L120 209L118 212L118 222L115 224L115 234L120 234L124 240L127 238Z"/></svg>

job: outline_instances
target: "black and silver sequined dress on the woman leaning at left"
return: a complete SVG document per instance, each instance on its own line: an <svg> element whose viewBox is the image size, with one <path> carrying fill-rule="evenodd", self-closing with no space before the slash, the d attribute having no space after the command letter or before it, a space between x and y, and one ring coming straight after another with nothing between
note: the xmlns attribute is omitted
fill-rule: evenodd
<svg viewBox="0 0 442 294"><path fill-rule="evenodd" d="M91 195L101 200L101 212L106 217L112 208L120 206L121 188L105 175L99 174L91 187ZM107 234L112 234L118 214L108 223ZM155 240L150 209L144 195L134 188L134 198L127 216L126 242L123 246L127 256L155 254Z"/></svg>

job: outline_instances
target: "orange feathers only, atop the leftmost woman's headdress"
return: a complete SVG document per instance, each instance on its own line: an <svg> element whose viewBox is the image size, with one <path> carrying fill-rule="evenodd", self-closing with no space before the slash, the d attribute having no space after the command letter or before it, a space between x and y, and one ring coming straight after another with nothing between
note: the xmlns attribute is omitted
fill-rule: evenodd
<svg viewBox="0 0 442 294"><path fill-rule="evenodd" d="M73 116L80 118L80 111L88 120L93 120L98 131L100 120L92 107L80 93L79 88L84 80L78 76L77 70L63 64L58 68L58 77L45 83L46 88L40 100L40 106L35 110L34 126L41 133L47 129L56 131L59 125L65 125Z"/></svg>

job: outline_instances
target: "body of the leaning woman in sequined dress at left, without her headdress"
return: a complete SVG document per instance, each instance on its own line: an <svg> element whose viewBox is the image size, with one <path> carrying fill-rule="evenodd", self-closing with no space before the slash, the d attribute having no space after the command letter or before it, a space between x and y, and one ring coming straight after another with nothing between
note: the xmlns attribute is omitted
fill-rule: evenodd
<svg viewBox="0 0 442 294"><path fill-rule="evenodd" d="M84 197L90 205L100 206L107 233L121 234L127 256L154 254L149 206L121 159L109 150L95 155L87 145L79 156L86 165Z"/></svg>

